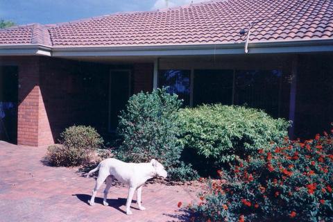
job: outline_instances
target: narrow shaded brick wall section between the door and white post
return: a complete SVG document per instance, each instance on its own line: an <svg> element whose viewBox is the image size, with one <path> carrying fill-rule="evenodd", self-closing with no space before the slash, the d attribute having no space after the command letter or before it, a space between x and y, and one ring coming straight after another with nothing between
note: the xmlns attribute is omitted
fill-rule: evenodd
<svg viewBox="0 0 333 222"><path fill-rule="evenodd" d="M133 67L132 92L151 92L153 90L153 63L137 63Z"/></svg>

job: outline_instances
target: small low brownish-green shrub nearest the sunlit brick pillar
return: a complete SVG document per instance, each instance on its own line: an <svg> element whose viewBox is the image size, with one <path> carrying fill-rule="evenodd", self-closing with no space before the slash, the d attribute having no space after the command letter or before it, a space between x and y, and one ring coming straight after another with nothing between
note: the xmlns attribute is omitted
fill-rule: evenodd
<svg viewBox="0 0 333 222"><path fill-rule="evenodd" d="M90 126L71 126L60 138L60 145L49 146L46 153L46 159L56 167L87 164L103 145L103 138Z"/></svg>

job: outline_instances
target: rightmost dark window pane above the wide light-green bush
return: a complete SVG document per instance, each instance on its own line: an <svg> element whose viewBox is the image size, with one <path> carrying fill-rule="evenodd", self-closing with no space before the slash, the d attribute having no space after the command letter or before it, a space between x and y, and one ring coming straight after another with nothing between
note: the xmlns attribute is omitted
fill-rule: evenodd
<svg viewBox="0 0 333 222"><path fill-rule="evenodd" d="M234 103L248 105L279 116L282 71L237 70Z"/></svg>

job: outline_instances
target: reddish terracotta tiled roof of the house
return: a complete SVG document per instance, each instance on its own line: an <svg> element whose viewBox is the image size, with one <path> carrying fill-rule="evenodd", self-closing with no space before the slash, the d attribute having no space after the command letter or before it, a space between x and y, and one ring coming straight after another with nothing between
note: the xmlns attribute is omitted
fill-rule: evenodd
<svg viewBox="0 0 333 222"><path fill-rule="evenodd" d="M332 0L215 0L152 12L0 30L0 44L117 46L223 44L333 37Z"/></svg>

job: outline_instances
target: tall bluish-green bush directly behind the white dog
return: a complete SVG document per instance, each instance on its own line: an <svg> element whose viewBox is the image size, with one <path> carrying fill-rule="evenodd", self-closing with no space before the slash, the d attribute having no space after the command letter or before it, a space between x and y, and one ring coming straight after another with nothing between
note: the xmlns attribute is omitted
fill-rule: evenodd
<svg viewBox="0 0 333 222"><path fill-rule="evenodd" d="M189 167L184 170L185 165L180 162L183 145L178 139L178 110L181 103L166 88L131 96L126 110L119 116L117 130L123 143L117 158L126 162L148 162L154 158L167 168L174 180L193 178L196 173Z"/></svg>

